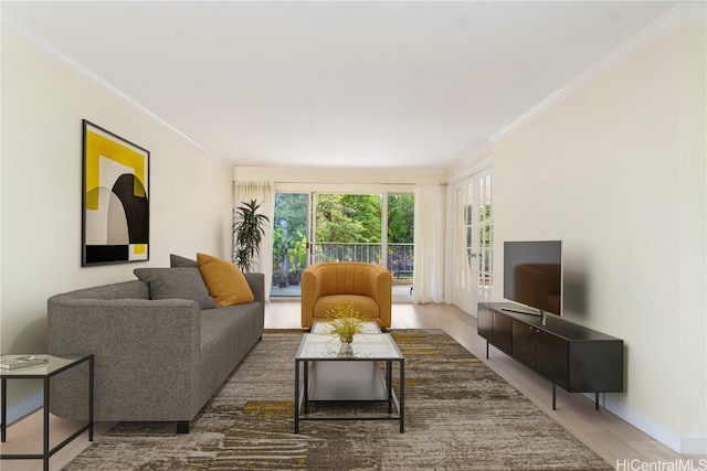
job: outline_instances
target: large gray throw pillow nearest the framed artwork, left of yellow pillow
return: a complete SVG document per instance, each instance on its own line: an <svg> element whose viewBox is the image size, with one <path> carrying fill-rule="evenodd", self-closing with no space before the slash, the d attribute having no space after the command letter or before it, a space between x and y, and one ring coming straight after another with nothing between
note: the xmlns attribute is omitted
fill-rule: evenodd
<svg viewBox="0 0 707 471"><path fill-rule="evenodd" d="M190 299L201 309L219 307L198 268L136 268L133 272L147 283L150 299Z"/></svg>

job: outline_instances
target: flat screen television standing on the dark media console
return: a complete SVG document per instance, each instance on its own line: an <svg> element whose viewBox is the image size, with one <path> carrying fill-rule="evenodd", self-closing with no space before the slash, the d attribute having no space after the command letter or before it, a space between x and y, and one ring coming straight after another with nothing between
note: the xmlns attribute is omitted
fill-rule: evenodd
<svg viewBox="0 0 707 471"><path fill-rule="evenodd" d="M544 315L562 314L562 242L504 242L504 298Z"/></svg>

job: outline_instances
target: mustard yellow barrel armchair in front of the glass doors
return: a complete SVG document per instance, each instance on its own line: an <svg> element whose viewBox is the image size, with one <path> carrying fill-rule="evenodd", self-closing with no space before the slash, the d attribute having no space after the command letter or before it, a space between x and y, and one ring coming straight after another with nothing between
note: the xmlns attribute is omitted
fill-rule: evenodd
<svg viewBox="0 0 707 471"><path fill-rule="evenodd" d="M337 302L351 302L378 327L390 327L392 277L379 265L315 264L302 274L302 327L327 320Z"/></svg>

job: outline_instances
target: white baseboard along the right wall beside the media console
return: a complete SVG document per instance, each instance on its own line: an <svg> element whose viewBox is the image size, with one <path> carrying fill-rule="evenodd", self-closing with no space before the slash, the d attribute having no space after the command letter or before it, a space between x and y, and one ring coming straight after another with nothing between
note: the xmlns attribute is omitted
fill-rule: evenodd
<svg viewBox="0 0 707 471"><path fill-rule="evenodd" d="M594 400L593 394L588 394L587 397ZM643 414L636 413L625 404L612 399L611 395L600 395L600 402L606 410L621 417L644 433L650 435L676 453L707 454L707 437L680 437L675 431L657 424Z"/></svg>

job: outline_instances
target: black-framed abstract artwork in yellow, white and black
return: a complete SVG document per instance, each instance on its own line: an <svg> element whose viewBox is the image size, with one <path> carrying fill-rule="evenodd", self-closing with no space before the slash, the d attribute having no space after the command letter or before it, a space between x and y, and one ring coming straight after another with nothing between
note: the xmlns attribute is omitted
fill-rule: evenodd
<svg viewBox="0 0 707 471"><path fill-rule="evenodd" d="M83 120L82 266L149 260L150 152Z"/></svg>

